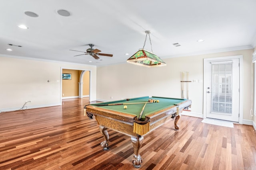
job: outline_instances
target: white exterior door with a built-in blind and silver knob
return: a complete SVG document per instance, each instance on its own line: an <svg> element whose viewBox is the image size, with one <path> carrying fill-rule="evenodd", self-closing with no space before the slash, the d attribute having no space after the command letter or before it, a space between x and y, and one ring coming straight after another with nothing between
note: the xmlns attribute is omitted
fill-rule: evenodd
<svg viewBox="0 0 256 170"><path fill-rule="evenodd" d="M239 59L206 61L206 118L239 122Z"/></svg>

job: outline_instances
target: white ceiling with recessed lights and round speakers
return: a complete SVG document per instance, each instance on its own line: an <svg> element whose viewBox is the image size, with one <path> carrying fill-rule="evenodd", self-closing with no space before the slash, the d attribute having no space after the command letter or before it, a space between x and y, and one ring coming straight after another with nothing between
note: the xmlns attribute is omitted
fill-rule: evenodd
<svg viewBox="0 0 256 170"><path fill-rule="evenodd" d="M60 16L60 9L71 16ZM151 31L153 52L162 59L252 49L255 11L256 0L1 0L0 54L96 66L124 63L143 47L146 30ZM113 57L95 60L70 51L86 51L89 43ZM151 51L149 39L145 49Z"/></svg>

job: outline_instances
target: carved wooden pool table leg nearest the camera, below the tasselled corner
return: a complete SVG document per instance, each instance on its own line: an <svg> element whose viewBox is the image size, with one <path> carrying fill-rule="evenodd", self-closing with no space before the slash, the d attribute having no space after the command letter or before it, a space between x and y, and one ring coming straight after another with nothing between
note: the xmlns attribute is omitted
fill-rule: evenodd
<svg viewBox="0 0 256 170"><path fill-rule="evenodd" d="M142 158L140 157L140 148L142 147L144 137L138 135L137 137L132 137L132 145L134 149L134 156L132 158L132 163L135 168L140 168L142 163Z"/></svg>

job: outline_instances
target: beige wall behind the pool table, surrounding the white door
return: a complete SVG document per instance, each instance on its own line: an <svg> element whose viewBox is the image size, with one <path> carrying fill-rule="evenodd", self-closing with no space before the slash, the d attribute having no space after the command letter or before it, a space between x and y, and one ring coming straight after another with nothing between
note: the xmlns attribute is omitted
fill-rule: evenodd
<svg viewBox="0 0 256 170"><path fill-rule="evenodd" d="M146 68L133 64L116 64L97 68L97 99L119 100L138 96L181 98L181 72L189 72L190 80L203 80L204 59L243 55L243 119L251 121L253 49L163 59L167 66ZM113 97L111 99L110 97ZM203 83L189 84L191 112L203 113Z"/></svg>

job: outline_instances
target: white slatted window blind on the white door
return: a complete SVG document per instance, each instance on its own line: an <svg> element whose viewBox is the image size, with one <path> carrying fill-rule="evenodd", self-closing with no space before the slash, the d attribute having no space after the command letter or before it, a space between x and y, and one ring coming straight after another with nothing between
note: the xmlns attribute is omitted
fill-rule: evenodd
<svg viewBox="0 0 256 170"><path fill-rule="evenodd" d="M232 61L212 62L212 113L232 114Z"/></svg>

